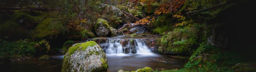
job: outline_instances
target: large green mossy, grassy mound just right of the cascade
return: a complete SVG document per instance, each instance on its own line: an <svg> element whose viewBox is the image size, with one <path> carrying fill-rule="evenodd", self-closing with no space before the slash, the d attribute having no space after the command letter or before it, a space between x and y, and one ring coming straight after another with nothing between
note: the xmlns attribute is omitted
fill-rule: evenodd
<svg viewBox="0 0 256 72"><path fill-rule="evenodd" d="M160 42L158 44L162 46L158 49L159 52L189 53L193 49L193 46L198 45L196 32L194 26L188 26L164 34L161 40L158 41Z"/></svg>

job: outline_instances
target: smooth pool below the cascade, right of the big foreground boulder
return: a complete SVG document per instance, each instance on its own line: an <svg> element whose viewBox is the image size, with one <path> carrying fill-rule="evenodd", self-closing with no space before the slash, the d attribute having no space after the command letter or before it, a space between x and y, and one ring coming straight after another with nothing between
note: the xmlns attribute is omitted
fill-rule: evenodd
<svg viewBox="0 0 256 72"><path fill-rule="evenodd" d="M154 53L107 54L107 58L108 72L117 72L119 69L135 71L144 67L154 70L156 68L173 69L185 64L184 60Z"/></svg>

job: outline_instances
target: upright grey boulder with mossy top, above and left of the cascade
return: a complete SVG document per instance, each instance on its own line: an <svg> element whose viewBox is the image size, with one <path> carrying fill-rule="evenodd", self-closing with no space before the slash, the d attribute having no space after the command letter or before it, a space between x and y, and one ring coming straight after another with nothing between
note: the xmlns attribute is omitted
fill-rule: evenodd
<svg viewBox="0 0 256 72"><path fill-rule="evenodd" d="M98 19L94 26L94 30L98 36L108 36L110 32L108 21L104 19Z"/></svg>

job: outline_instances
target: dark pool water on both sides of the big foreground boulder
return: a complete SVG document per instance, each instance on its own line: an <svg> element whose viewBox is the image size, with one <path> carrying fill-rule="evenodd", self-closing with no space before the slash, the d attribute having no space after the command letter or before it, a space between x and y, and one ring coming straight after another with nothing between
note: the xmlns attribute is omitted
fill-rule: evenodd
<svg viewBox="0 0 256 72"><path fill-rule="evenodd" d="M51 56L48 61L25 60L12 62L0 68L0 72L61 72L62 56ZM119 69L125 71L137 70L138 68L180 68L184 60L154 53L132 53L132 54L107 54L108 72L117 72Z"/></svg>

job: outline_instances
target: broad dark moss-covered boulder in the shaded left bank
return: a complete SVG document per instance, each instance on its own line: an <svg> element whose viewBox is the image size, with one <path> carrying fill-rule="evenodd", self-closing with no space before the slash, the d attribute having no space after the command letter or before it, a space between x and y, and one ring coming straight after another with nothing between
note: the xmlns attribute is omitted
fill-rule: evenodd
<svg viewBox="0 0 256 72"><path fill-rule="evenodd" d="M67 29L58 19L47 18L42 23L38 24L32 34L33 38L56 38L57 36L64 34Z"/></svg>

